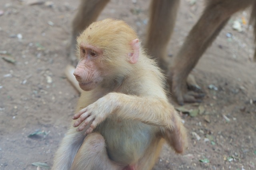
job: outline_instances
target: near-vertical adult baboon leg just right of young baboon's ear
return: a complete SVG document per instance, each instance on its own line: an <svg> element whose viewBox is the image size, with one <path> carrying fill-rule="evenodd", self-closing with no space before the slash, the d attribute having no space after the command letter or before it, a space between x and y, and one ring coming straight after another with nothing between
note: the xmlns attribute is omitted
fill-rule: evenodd
<svg viewBox="0 0 256 170"><path fill-rule="evenodd" d="M145 48L166 70L166 48L176 21L180 0L152 0Z"/></svg>

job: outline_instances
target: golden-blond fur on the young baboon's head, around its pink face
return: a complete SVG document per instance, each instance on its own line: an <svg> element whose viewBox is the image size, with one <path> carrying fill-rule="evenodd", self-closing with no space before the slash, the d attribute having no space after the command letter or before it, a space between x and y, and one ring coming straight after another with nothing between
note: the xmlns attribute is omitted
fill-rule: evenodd
<svg viewBox="0 0 256 170"><path fill-rule="evenodd" d="M133 53L131 42L138 39L134 29L122 20L111 18L96 21L89 25L77 38L77 48L80 43L93 45L102 50L101 62L107 64L109 70L130 70L131 64L124 63L127 55ZM78 51L79 53L79 51Z"/></svg>

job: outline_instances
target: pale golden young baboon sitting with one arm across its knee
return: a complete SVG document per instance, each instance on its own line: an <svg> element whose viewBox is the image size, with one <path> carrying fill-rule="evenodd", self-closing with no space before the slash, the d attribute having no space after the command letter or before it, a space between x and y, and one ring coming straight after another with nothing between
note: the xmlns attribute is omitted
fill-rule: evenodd
<svg viewBox="0 0 256 170"><path fill-rule="evenodd" d="M94 22L77 39L83 90L52 170L150 170L164 141L186 148L164 75L124 21ZM77 128L78 127L78 128Z"/></svg>

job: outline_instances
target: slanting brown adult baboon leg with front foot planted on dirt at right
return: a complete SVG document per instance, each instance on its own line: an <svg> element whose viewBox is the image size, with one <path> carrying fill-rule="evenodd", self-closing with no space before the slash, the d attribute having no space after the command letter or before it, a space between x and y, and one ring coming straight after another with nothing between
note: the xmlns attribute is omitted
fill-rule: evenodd
<svg viewBox="0 0 256 170"><path fill-rule="evenodd" d="M186 79L196 66L204 51L210 46L230 16L248 7L252 0L218 0L208 4L196 25L190 31L174 63L170 64L168 79L172 83L172 93L180 105L184 102L200 102L194 94L186 94Z"/></svg>

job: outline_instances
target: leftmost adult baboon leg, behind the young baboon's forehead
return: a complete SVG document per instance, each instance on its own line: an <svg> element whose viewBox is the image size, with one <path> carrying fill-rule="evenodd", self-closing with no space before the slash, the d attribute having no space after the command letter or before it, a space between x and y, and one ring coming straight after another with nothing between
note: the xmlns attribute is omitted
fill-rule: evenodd
<svg viewBox="0 0 256 170"><path fill-rule="evenodd" d="M106 4L110 0L81 0L80 7L73 20L73 31L70 45L70 59L72 64L77 64L75 55L76 37L88 27L93 21L96 21Z"/></svg>

